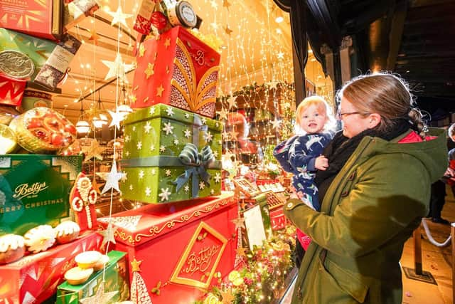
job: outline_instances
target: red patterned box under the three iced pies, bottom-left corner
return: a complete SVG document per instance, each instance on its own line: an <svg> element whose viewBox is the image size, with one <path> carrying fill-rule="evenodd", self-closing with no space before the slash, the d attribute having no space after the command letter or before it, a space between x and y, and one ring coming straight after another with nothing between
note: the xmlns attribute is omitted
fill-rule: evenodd
<svg viewBox="0 0 455 304"><path fill-rule="evenodd" d="M65 281L65 272L77 266L74 257L99 250L101 241L100 234L89 231L70 243L0 266L0 303L42 303Z"/></svg>

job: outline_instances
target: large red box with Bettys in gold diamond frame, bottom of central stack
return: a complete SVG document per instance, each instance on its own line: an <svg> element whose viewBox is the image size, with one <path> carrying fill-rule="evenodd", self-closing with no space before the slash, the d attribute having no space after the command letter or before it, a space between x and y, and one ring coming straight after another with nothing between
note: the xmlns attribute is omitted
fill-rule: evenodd
<svg viewBox="0 0 455 304"><path fill-rule="evenodd" d="M233 194L147 205L112 216L116 229L112 247L127 252L130 263L140 263L138 273L151 303L193 303L218 283L218 273L223 278L234 268L233 219L237 219ZM106 229L108 221L103 217L98 224ZM129 268L132 289L138 274L134 268ZM159 294L151 292L154 288Z"/></svg>

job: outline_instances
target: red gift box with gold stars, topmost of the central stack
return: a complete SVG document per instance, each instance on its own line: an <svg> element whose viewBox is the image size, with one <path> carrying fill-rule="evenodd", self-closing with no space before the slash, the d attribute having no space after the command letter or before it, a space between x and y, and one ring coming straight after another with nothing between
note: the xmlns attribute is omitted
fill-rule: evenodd
<svg viewBox="0 0 455 304"><path fill-rule="evenodd" d="M215 116L220 54L181 26L146 39L137 52L132 108L157 103Z"/></svg>

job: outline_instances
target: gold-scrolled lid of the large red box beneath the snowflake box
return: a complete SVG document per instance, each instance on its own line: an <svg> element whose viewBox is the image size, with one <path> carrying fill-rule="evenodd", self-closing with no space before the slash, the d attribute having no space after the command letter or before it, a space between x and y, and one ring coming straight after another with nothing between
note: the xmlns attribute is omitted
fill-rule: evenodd
<svg viewBox="0 0 455 304"><path fill-rule="evenodd" d="M139 246L236 203L232 192L223 192L220 196L148 205L120 212L111 218L112 225L117 227L114 237L128 246ZM98 219L103 229L108 223L107 216Z"/></svg>

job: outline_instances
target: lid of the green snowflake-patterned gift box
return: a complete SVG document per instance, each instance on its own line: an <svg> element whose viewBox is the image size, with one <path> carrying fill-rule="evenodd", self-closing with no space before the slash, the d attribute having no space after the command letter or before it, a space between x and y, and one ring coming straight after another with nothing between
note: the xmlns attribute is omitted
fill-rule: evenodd
<svg viewBox="0 0 455 304"><path fill-rule="evenodd" d="M176 120L183 123L191 123L192 125L198 125L200 127L207 125L208 129L218 132L223 130L223 124L217 120L213 120L193 112L188 112L186 110L181 110L171 105L165 105L163 103L151 105L149 108L142 108L141 110L130 113L124 120L124 124L130 125L136 122L161 117L166 117L170 120Z"/></svg>

